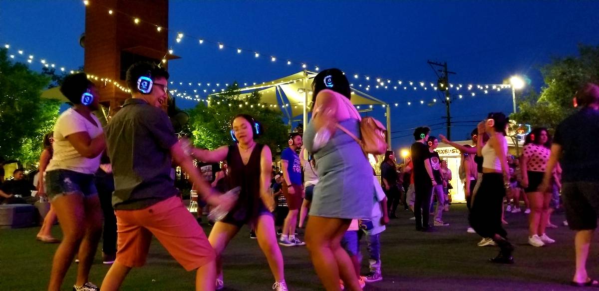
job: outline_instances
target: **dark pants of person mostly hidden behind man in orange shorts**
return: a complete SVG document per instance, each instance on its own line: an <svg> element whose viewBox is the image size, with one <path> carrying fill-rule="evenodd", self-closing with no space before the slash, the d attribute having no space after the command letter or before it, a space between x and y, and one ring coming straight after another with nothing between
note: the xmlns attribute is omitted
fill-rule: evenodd
<svg viewBox="0 0 599 291"><path fill-rule="evenodd" d="M96 188L98 189L102 213L104 213L102 251L105 254L116 254L116 216L112 207L112 192L114 191L113 176L96 177Z"/></svg>

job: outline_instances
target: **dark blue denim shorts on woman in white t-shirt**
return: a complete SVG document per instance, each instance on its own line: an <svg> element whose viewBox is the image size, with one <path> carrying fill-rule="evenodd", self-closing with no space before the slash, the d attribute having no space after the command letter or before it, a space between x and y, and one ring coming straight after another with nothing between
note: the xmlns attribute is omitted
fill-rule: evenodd
<svg viewBox="0 0 599 291"><path fill-rule="evenodd" d="M46 194L50 201L62 195L78 194L84 197L98 195L92 174L56 169L47 171L44 177Z"/></svg>

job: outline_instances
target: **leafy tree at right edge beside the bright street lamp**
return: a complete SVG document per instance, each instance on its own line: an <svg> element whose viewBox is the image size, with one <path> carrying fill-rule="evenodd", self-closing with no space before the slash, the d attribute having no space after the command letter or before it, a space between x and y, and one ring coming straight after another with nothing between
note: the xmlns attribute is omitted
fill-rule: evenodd
<svg viewBox="0 0 599 291"><path fill-rule="evenodd" d="M519 102L520 111L511 119L519 123L555 127L574 112L572 99L582 84L599 81L599 46L579 45L579 56L553 59L541 68L545 86Z"/></svg>

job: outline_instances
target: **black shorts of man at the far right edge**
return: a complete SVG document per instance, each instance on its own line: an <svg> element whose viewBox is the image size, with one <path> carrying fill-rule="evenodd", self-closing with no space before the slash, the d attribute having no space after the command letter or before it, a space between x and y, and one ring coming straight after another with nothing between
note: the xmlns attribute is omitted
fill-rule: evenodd
<svg viewBox="0 0 599 291"><path fill-rule="evenodd" d="M597 228L599 211L599 183L566 182L562 186L565 217L574 231Z"/></svg>

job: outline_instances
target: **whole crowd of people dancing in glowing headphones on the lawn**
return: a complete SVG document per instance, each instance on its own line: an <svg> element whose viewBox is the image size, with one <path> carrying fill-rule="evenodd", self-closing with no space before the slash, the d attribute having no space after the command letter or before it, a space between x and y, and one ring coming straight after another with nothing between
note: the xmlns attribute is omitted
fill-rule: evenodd
<svg viewBox="0 0 599 291"><path fill-rule="evenodd" d="M355 140L361 136L361 116L350 102L349 82L338 69L326 69L314 78L310 123L303 135L289 135L280 169L273 166L268 145L257 141L264 131L261 123L247 114L232 118L229 145L205 150L177 138L162 110L168 78L165 69L151 63L132 65L126 72L131 98L102 128L92 114L99 106L95 84L83 73L69 75L60 90L73 105L44 138L38 186L23 180L21 169L2 184L3 203L31 204L38 200L32 190L51 202L37 234L40 241L59 243L49 290L60 290L75 257L73 290L119 289L132 268L146 263L152 237L183 268L195 271L196 290L220 290L225 286L222 253L246 225L268 261L273 290L288 290L280 246L302 245L326 290L362 290L368 282L383 280L380 236L389 220L397 219L400 205L413 211L416 231L450 225L443 214L449 208L453 175L464 184L467 231L480 235L478 245L500 249L490 262L515 262L504 212L522 211L523 199L528 243L542 247L555 242L546 231L555 226L550 215L563 201L564 224L576 231L571 284L599 286L586 272L599 211L599 157L588 153L594 145L591 137L599 136L595 84L576 93L580 110L564 120L553 137L546 128L534 128L519 157L509 152L509 119L489 113L471 133L471 145L443 135L437 138L427 127L416 128L406 163L398 171L394 152L387 151L379 180ZM435 151L440 141L461 151L458 173L452 173ZM206 179L198 163L223 166ZM174 186L174 165L186 172L198 202L222 214L212 217L208 236L183 205ZM235 188L238 195L222 195ZM61 240L50 232L57 217ZM297 228L305 228L305 242ZM364 236L367 274L360 272L359 243ZM103 262L111 268L97 287L88 277L101 237Z"/></svg>

